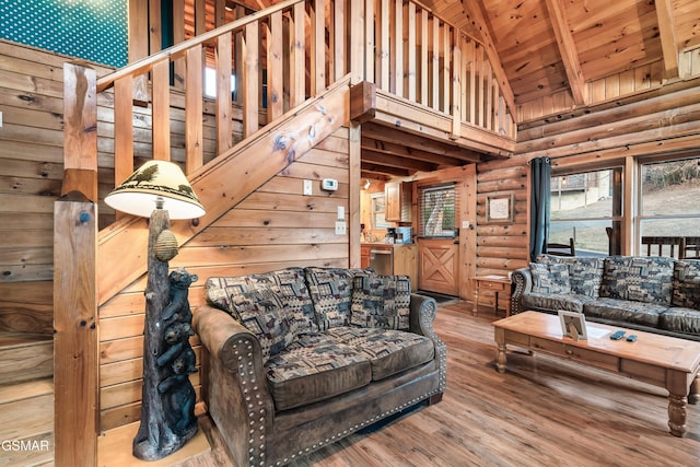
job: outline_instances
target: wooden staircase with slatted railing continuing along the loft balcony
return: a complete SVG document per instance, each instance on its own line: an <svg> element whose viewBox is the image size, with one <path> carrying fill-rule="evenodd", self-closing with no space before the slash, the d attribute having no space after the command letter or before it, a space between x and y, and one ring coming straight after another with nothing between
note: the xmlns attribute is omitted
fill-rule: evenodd
<svg viewBox="0 0 700 467"><path fill-rule="evenodd" d="M406 50L404 34L395 34L405 17L410 23ZM202 65L209 56L219 57L213 103L202 96ZM221 59L232 56L233 61ZM405 73L405 61L409 68L420 62L420 73ZM485 47L413 1L284 0L107 77L96 79L81 65L65 66L63 198L57 202L60 214L55 225L62 229L61 238L73 238L65 243L75 248L66 248L59 259L55 252L55 341L56 353L63 363L70 362L65 367L82 371L56 371L56 462L81 458L92 465L96 459L96 443L89 437L101 429L93 407L95 401L100 406L102 389L98 310L147 269L147 220L117 215L97 235L90 230L96 215L89 213L94 214L97 205L104 207L98 186L104 191L113 182L120 183L144 156L178 162L207 209L196 222L171 225L177 243L186 245L305 152L349 126L350 90L365 81L376 84L381 97L375 103L376 120L396 127L407 105L420 108L411 115L431 118L401 118L401 128L451 141L471 135L472 147L498 155L500 149L491 147L500 147L514 132L512 104L495 92L498 81L487 65ZM232 77L238 86L236 102ZM182 93L174 93L174 87ZM97 96L114 103L104 120L114 141L113 164L106 167L98 167L95 129L103 121L98 121ZM135 124L141 121L135 116L147 112L137 109L135 101L148 104L148 128ZM180 112L178 120L171 119ZM183 148L173 144L178 141L174 128L184 136ZM357 126L353 138L357 160L350 183L359 189ZM114 180L97 179L109 172ZM75 213L80 223L72 218ZM80 287L74 287L75 278Z"/></svg>

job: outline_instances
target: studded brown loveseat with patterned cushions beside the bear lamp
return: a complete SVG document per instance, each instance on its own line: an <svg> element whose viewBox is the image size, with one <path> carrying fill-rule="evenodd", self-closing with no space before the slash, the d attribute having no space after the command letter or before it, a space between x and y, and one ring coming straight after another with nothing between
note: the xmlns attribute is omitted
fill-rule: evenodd
<svg viewBox="0 0 700 467"><path fill-rule="evenodd" d="M206 287L202 396L237 466L291 463L445 390L438 306L408 277L289 268Z"/></svg>

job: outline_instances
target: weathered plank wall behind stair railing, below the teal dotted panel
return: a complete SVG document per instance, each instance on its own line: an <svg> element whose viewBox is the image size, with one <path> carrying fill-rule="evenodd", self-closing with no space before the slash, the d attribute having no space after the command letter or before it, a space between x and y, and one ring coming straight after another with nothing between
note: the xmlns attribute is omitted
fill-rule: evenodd
<svg viewBox="0 0 700 467"><path fill-rule="evenodd" d="M54 201L63 177L63 62L73 60L0 40L0 330L52 334ZM92 66L97 77L112 71ZM173 91L172 160L185 161L184 95ZM98 186L103 199L114 188L114 93L97 98ZM203 106L205 163L214 156L213 101ZM234 110L233 141L242 139ZM136 107L136 164L152 154L151 109ZM101 202L100 227L114 221Z"/></svg>

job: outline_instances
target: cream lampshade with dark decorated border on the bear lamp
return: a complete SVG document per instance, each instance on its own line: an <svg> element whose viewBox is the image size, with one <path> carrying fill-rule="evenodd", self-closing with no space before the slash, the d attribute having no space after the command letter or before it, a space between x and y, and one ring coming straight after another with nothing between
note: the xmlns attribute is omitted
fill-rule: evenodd
<svg viewBox="0 0 700 467"><path fill-rule="evenodd" d="M105 202L128 214L151 217L159 207L171 219L196 219L205 208L183 171L168 161L149 161L106 196ZM162 205L162 206L160 206Z"/></svg>

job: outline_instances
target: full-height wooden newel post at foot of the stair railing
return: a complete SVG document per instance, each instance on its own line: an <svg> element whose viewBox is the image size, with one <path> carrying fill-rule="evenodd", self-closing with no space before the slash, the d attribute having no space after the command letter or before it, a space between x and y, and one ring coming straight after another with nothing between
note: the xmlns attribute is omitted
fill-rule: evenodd
<svg viewBox="0 0 700 467"><path fill-rule="evenodd" d="M54 464L96 466L97 91L94 70L63 67L63 197L55 205Z"/></svg>

